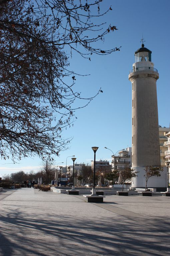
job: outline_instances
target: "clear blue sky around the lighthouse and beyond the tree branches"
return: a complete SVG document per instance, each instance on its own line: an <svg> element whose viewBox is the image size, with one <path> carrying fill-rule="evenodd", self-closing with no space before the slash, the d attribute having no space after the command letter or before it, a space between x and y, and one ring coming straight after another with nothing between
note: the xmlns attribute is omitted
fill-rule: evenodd
<svg viewBox="0 0 170 256"><path fill-rule="evenodd" d="M152 62L158 69L157 81L159 124L169 127L170 115L169 70L170 70L170 1L169 0L106 0L101 9L112 5L112 11L102 18L118 30L105 37L103 49L120 47L119 52L108 56L93 55L91 61L77 54L70 58L70 67L76 73L90 74L77 77L75 90L82 96L92 96L101 87L100 93L86 108L79 109L73 127L63 131L63 137L72 137L70 149L55 157L54 165L66 164L66 157L75 155L77 163L90 163L94 154L92 146L99 147L96 160L111 160L111 152L131 146L131 82L129 71L135 62L134 52L141 47L142 34L145 47L152 51ZM83 103L82 103L83 104ZM71 158L67 165L72 164ZM18 164L0 161L0 176L23 170L37 171L42 161L38 157L23 159Z"/></svg>

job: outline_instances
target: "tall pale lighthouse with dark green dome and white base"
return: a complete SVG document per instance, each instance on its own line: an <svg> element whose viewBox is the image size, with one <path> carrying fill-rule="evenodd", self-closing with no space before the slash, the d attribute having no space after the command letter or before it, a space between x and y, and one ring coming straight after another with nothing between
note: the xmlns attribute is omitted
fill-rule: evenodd
<svg viewBox="0 0 170 256"><path fill-rule="evenodd" d="M156 81L157 69L151 61L151 51L144 47L135 52L135 63L130 71L132 83L132 168L137 177L132 187L145 187L145 166L160 166L159 127ZM166 187L166 174L151 177L149 187Z"/></svg>

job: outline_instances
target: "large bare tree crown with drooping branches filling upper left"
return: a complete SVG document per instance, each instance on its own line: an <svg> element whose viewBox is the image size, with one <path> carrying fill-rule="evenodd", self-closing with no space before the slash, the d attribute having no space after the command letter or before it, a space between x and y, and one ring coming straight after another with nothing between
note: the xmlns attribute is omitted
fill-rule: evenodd
<svg viewBox="0 0 170 256"><path fill-rule="evenodd" d="M52 158L68 147L69 139L62 138L62 130L71 125L76 108L86 106L95 95L85 99L74 91L77 74L69 70L66 51L76 51L89 60L94 53L119 51L100 49L99 40L117 29L96 23L111 10L100 14L101 1L0 0L3 159L16 161L34 154ZM70 84L65 83L68 76ZM85 102L74 107L79 99Z"/></svg>

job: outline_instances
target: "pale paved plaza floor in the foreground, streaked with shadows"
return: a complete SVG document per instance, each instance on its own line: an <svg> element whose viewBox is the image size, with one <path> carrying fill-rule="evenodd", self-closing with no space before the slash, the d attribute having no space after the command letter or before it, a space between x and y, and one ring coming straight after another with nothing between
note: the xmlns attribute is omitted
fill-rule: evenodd
<svg viewBox="0 0 170 256"><path fill-rule="evenodd" d="M0 256L170 255L170 197L0 193Z"/></svg>

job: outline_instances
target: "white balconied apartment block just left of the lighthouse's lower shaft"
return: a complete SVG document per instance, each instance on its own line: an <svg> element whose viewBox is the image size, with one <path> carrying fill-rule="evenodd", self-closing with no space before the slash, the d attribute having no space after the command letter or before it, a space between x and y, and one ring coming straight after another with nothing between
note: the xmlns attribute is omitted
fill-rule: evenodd
<svg viewBox="0 0 170 256"><path fill-rule="evenodd" d="M118 152L118 156L112 155L112 171L121 171L125 167L132 166L132 148L126 148Z"/></svg>

